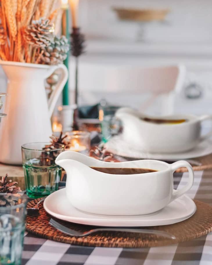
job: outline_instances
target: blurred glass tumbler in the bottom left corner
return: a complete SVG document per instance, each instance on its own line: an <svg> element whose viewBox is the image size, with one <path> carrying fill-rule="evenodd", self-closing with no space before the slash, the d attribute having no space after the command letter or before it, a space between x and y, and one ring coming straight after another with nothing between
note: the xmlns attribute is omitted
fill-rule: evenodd
<svg viewBox="0 0 212 265"><path fill-rule="evenodd" d="M1 265L21 264L26 204L26 195L0 193Z"/></svg>

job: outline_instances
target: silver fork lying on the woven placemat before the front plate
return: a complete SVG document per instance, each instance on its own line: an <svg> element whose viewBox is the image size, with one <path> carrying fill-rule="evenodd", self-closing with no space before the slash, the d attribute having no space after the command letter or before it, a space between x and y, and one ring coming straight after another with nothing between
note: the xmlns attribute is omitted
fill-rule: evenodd
<svg viewBox="0 0 212 265"><path fill-rule="evenodd" d="M50 219L49 224L53 226L54 228L58 229L59 231L63 232L64 234L67 234L73 237L84 237L92 233L102 232L102 231L116 231L116 232L131 232L131 233L133 232L133 233L140 233L140 234L152 234L152 235L166 237L169 239L176 239L174 235L168 232L165 232L165 231L160 231L160 230L135 229L135 228L96 228L96 229L91 229L85 232L79 232L79 231L67 228L66 226L63 226L62 224L58 223L52 218Z"/></svg>

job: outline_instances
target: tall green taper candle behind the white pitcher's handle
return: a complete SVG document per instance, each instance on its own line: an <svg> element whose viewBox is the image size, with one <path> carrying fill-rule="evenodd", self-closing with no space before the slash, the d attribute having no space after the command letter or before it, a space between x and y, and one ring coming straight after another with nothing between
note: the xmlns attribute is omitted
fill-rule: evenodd
<svg viewBox="0 0 212 265"><path fill-rule="evenodd" d="M62 35L66 36L69 40L69 10L64 9L62 15ZM67 67L69 71L69 52L67 54L66 60L64 60L64 65ZM69 78L64 86L62 92L62 104L69 105Z"/></svg>

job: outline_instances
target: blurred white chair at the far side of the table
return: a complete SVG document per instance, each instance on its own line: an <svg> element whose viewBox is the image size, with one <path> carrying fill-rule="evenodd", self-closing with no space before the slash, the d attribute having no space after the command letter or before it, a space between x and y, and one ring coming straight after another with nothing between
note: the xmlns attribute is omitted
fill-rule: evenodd
<svg viewBox="0 0 212 265"><path fill-rule="evenodd" d="M183 86L186 68L184 65L141 68L138 66L116 66L102 64L82 64L80 66L79 88L88 104L98 102L101 98L121 97L135 94L141 99L140 111L146 111L156 98L162 100L161 114L173 112L173 97ZM72 75L72 87L73 87ZM145 97L144 95L150 95ZM101 96L102 95L102 96ZM108 96L107 96L108 95ZM92 100L95 99L96 100ZM144 98L147 98L144 100ZM118 100L118 99L117 99ZM91 103L92 102L92 103ZM83 102L85 103L85 102ZM118 103L118 102L117 102ZM129 102L133 105L133 102Z"/></svg>

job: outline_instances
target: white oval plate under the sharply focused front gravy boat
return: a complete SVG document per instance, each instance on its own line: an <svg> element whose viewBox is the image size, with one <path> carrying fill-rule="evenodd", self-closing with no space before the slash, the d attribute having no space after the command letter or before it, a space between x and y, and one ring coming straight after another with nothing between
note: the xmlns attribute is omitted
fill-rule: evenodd
<svg viewBox="0 0 212 265"><path fill-rule="evenodd" d="M160 226L181 222L196 211L195 203L186 195L158 212L146 215L112 216L82 212L68 202L65 188L53 192L44 201L44 209L58 219L93 226Z"/></svg>

